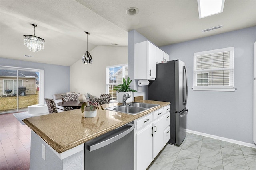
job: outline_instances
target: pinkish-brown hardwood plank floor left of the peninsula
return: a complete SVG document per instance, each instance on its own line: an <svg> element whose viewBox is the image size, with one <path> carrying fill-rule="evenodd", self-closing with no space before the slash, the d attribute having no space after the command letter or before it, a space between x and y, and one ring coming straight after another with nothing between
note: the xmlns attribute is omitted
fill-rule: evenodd
<svg viewBox="0 0 256 170"><path fill-rule="evenodd" d="M12 114L0 115L0 170L29 170L31 129Z"/></svg>

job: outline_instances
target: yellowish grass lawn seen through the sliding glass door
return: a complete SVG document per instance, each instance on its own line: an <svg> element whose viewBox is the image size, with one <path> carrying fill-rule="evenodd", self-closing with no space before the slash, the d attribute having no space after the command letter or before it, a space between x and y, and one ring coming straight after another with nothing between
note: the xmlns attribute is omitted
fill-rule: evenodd
<svg viewBox="0 0 256 170"><path fill-rule="evenodd" d="M17 96L0 97L0 112L17 109ZM39 92L27 96L19 96L19 109L27 108L30 105L38 104Z"/></svg>

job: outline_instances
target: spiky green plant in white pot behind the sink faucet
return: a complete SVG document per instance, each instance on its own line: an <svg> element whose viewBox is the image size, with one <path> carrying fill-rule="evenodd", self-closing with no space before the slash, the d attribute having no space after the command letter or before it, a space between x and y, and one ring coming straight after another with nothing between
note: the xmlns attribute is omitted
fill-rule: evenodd
<svg viewBox="0 0 256 170"><path fill-rule="evenodd" d="M113 90L118 92L117 101L119 103L123 102L123 96L126 93L129 93L131 95L131 97L126 100L126 103L131 103L133 101L133 98L134 98L133 92L137 92L137 90L130 88L131 82L132 80L130 80L130 77L127 78L127 81L125 80L125 78L123 78L123 84L118 84L117 86L114 87Z"/></svg>

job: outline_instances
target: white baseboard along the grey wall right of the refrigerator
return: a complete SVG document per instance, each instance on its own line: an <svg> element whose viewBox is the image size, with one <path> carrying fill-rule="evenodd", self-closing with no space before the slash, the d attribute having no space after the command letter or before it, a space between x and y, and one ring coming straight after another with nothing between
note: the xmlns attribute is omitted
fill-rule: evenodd
<svg viewBox="0 0 256 170"><path fill-rule="evenodd" d="M225 138L225 137L219 137L219 136L210 135L210 134L207 134L207 133L202 133L202 132L197 132L197 131L192 131L192 130L188 130L188 129L187 129L187 132L188 132L188 133L194 133L194 134L196 134L196 135L205 136L205 137L210 137L210 138L213 138L213 139L218 139L218 140L221 140L221 141L226 141L226 142L230 142L230 143L235 143L235 144L238 144L238 145L243 145L243 146L246 146L246 147L256 148L256 145L254 145L254 144L252 144L252 143L246 143L246 142L242 142L242 141L236 141L236 140L234 140L234 139L228 139L228 138Z"/></svg>

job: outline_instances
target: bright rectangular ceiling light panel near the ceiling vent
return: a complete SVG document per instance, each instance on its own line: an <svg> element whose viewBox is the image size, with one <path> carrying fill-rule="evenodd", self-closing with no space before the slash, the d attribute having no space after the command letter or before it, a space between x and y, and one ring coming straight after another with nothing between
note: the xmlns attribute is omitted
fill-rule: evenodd
<svg viewBox="0 0 256 170"><path fill-rule="evenodd" d="M223 12L225 0L197 0L199 18Z"/></svg>

